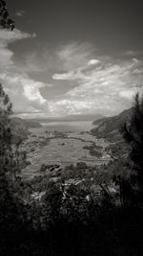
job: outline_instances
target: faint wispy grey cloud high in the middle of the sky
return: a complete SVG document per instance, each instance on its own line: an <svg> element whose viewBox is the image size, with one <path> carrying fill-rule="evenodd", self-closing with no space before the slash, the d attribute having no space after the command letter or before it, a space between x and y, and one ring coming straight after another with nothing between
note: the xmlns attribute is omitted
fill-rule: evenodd
<svg viewBox="0 0 143 256"><path fill-rule="evenodd" d="M83 71L100 62L99 59L92 58L96 49L90 43L72 42L61 46L56 52L57 58L61 61L63 73L52 75L53 80L78 80L83 77Z"/></svg>

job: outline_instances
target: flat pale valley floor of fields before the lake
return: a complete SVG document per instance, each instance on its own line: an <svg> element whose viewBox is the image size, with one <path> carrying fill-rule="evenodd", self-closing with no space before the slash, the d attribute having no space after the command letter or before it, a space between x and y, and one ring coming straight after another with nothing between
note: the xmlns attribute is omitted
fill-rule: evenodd
<svg viewBox="0 0 143 256"><path fill-rule="evenodd" d="M93 144L102 147L102 157L91 155L88 149ZM87 165L107 164L111 160L105 151L108 146L103 139L96 139L88 131L47 131L45 128L31 128L31 134L23 145L29 165L23 170L25 178L40 175L42 164L60 164L61 168L77 162Z"/></svg>

